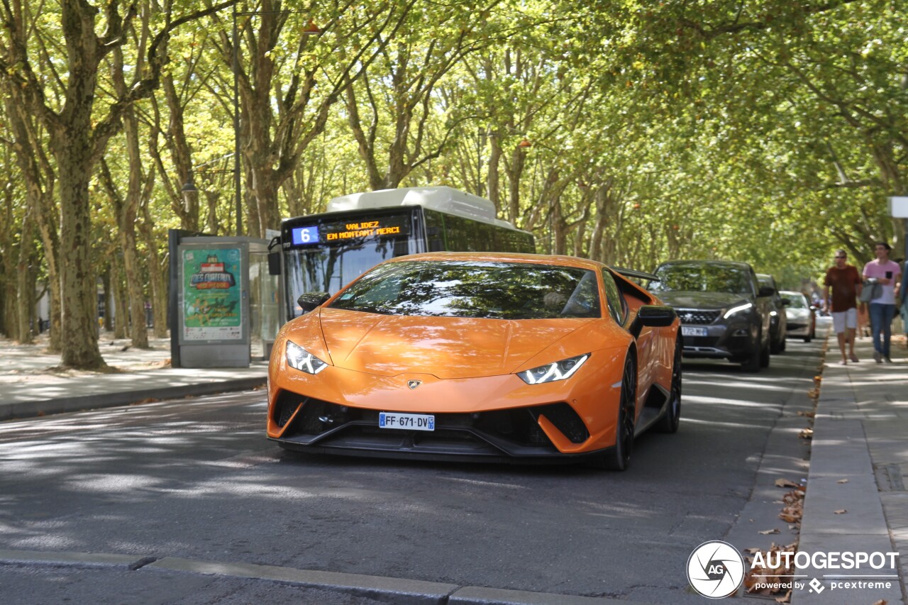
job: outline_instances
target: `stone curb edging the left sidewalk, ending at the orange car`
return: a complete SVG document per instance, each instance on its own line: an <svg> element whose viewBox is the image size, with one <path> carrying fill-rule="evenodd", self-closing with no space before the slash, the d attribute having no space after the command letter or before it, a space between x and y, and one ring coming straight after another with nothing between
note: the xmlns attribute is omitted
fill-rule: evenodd
<svg viewBox="0 0 908 605"><path fill-rule="evenodd" d="M267 382L265 376L237 378L227 381L200 382L178 386L155 387L153 389L97 393L77 397L59 397L34 402L0 403L0 422L33 418L46 414L81 412L98 408L112 408L143 402L148 399L180 399L218 392L249 391Z"/></svg>

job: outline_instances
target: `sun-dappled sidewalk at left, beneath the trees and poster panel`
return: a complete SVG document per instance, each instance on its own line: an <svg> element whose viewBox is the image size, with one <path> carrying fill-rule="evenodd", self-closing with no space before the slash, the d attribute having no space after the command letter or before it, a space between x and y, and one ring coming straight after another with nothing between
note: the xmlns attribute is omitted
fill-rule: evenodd
<svg viewBox="0 0 908 605"><path fill-rule="evenodd" d="M0 421L245 391L267 380L268 362L253 360L248 368L172 368L170 339L150 339L150 349L130 342L102 334L99 349L110 371L84 372L58 369L60 356L48 354L44 341L20 345L0 339Z"/></svg>

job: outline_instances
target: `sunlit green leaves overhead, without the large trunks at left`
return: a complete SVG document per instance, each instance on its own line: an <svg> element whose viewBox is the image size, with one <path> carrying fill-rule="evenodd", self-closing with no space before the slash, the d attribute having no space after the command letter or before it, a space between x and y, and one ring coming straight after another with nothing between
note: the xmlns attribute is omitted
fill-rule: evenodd
<svg viewBox="0 0 908 605"><path fill-rule="evenodd" d="M151 32L168 13L173 21L199 8L139 4L151 11ZM60 109L68 82L60 7L23 5L33 69L47 104ZM792 288L822 274L835 248L863 263L874 240L903 243L886 197L908 189L904 0L237 6L253 14L238 23L242 77L273 69L266 100L242 97L243 149L252 135L268 142L260 157L244 152L250 213L254 161L281 174L281 216L319 212L332 196L376 183L449 184L493 198L499 216L537 234L540 250L642 269L678 258L743 260ZM271 6L291 12L271 15L280 23L268 37L262 11ZM133 21L123 45L127 79L143 69L142 23ZM0 58L10 56L9 31ZM155 142L142 150L152 185L144 204L162 251L166 229L181 224L178 117L191 164L207 168L196 184L201 205L212 203L212 228L235 224L231 8L177 28L166 51L181 114L160 89L135 104L142 140ZM7 65L5 81L21 68ZM345 78L369 144L350 121ZM109 71L94 94L101 119L114 104ZM249 128L256 103L271 110L259 133ZM11 136L0 142L7 156ZM118 134L104 153L120 187L130 168L124 145ZM24 212L23 185L13 181L7 233ZM115 242L111 196L98 185L92 203L96 241ZM3 245L15 253L15 236ZM97 262L110 252L99 247Z"/></svg>

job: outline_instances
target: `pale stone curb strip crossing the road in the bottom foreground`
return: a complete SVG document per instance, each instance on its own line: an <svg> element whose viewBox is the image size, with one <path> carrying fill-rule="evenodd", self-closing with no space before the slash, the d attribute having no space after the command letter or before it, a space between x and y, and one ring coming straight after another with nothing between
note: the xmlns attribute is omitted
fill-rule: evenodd
<svg viewBox="0 0 908 605"><path fill-rule="evenodd" d="M639 601L597 597L503 590L479 586L367 576L336 571L297 570L273 565L224 563L143 557L141 555L100 552L47 552L41 550L0 550L0 566L41 565L81 569L169 570L201 575L230 576L299 584L307 588L331 590L357 597L387 600L395 605L646 605Z"/></svg>

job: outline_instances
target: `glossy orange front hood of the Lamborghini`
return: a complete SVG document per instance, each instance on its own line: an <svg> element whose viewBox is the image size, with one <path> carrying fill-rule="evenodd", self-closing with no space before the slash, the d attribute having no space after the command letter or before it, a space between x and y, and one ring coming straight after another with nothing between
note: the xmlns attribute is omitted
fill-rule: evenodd
<svg viewBox="0 0 908 605"><path fill-rule="evenodd" d="M424 317L321 309L321 331L334 365L385 376L422 373L440 379L515 372L538 352L591 321Z"/></svg>

